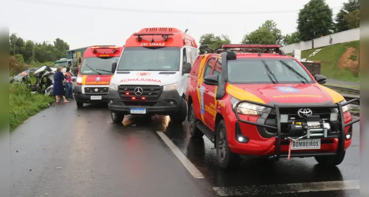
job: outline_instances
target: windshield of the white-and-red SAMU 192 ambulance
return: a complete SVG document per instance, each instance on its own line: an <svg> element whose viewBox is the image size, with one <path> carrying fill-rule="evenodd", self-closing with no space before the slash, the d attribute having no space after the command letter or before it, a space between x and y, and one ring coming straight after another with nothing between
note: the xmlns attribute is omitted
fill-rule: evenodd
<svg viewBox="0 0 369 197"><path fill-rule="evenodd" d="M180 47L126 47L117 70L180 70Z"/></svg>

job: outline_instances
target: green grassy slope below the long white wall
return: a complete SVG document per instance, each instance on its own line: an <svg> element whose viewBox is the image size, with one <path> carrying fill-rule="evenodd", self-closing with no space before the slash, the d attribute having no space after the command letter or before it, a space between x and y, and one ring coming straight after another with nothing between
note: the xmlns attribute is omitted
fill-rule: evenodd
<svg viewBox="0 0 369 197"><path fill-rule="evenodd" d="M301 51L301 58L307 58L311 61L321 62L321 74L332 79L337 79L340 81L352 81L359 82L359 77L356 77L354 71L350 69L339 68L338 61L346 52L346 48L354 48L355 51L359 51L360 42L352 41L342 44L335 44L326 47L320 47L316 49L322 49L319 53L315 54L313 57L309 57L316 49L310 49L306 51ZM290 54L288 54L290 55ZM351 60L357 60L355 55L351 55Z"/></svg>

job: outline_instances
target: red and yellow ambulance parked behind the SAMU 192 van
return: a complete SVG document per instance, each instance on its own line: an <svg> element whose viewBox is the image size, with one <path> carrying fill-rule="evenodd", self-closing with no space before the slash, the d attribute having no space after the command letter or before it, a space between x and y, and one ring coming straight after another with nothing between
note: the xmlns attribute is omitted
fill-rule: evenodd
<svg viewBox="0 0 369 197"><path fill-rule="evenodd" d="M86 49L78 70L74 98L77 106L84 103L106 102L113 77L112 64L117 63L123 47L92 46Z"/></svg>

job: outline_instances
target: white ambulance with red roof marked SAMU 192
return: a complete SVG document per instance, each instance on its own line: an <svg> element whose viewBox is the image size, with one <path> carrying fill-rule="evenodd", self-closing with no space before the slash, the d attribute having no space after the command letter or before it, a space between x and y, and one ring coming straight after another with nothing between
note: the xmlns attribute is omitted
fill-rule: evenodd
<svg viewBox="0 0 369 197"><path fill-rule="evenodd" d="M197 58L195 40L176 28L144 28L125 42L109 86L112 120L124 115L169 115L174 123L187 115L186 85Z"/></svg>

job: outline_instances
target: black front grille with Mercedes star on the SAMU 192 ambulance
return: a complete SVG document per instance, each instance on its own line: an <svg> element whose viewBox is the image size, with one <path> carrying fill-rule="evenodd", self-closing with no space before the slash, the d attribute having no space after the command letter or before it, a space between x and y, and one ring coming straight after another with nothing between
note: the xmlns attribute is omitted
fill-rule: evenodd
<svg viewBox="0 0 369 197"><path fill-rule="evenodd" d="M135 89L141 88L142 94L135 94ZM137 89L136 89L137 90ZM129 100L154 100L161 94L162 88L155 85L120 85L119 93L122 99Z"/></svg>

